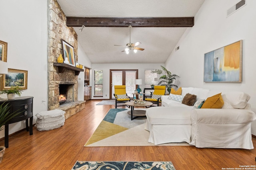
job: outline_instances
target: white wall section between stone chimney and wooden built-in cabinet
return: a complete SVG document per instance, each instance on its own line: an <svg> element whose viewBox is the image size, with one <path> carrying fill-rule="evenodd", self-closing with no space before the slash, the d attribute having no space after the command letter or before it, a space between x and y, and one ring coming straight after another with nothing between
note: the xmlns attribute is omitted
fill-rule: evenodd
<svg viewBox="0 0 256 170"><path fill-rule="evenodd" d="M92 63L87 57L86 53L84 52L84 49L82 49L82 46L80 45L80 43L78 43L78 63L86 66L87 68L92 68ZM93 79L91 79L90 82L92 82L92 80ZM78 97L78 100L84 100L84 72L80 72L78 75L78 96L77 97Z"/></svg>

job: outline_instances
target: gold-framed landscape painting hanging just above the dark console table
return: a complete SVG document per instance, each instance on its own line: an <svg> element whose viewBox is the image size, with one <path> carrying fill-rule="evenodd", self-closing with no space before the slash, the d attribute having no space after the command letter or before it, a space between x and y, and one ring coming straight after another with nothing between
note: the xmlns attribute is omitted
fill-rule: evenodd
<svg viewBox="0 0 256 170"><path fill-rule="evenodd" d="M28 89L28 71L8 68L8 74L1 77L1 90L19 86Z"/></svg>

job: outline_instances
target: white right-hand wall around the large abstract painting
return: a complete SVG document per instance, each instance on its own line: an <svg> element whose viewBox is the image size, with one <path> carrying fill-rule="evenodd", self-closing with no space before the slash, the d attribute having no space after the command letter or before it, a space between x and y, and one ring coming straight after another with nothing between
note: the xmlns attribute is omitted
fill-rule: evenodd
<svg viewBox="0 0 256 170"><path fill-rule="evenodd" d="M188 28L166 61L166 68L180 76L180 86L207 89L239 90L250 94L249 103L256 113L256 1L226 18L226 11L240 0L205 0ZM204 54L243 40L242 83L204 83ZM256 123L252 123L256 135Z"/></svg>

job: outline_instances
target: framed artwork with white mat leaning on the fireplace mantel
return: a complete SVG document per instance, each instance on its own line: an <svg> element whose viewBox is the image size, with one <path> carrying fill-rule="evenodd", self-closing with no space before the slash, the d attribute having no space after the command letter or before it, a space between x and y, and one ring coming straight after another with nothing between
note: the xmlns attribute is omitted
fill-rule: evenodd
<svg viewBox="0 0 256 170"><path fill-rule="evenodd" d="M76 66L74 47L63 39L61 39L61 43L62 43L62 53L63 53L64 60L67 57L69 64L72 66Z"/></svg>

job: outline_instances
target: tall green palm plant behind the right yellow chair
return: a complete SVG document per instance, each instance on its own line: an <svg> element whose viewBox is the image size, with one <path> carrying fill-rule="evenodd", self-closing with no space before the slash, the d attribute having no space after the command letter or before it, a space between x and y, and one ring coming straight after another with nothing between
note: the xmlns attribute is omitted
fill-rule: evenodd
<svg viewBox="0 0 256 170"><path fill-rule="evenodd" d="M161 66L162 70L152 70L152 73L162 74L162 76L159 78L161 80L158 85L164 85L167 87L167 91L170 93L172 87L178 88L177 85L173 84L173 81L176 80L179 76L176 74L172 74L170 71L168 71L164 66ZM164 71L164 73L163 73Z"/></svg>

